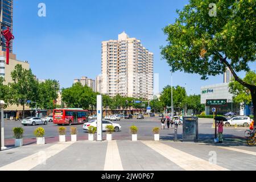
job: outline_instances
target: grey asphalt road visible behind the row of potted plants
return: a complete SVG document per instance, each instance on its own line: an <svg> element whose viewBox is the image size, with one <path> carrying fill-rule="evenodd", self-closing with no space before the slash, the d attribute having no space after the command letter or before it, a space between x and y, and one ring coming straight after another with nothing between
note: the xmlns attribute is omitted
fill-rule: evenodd
<svg viewBox="0 0 256 182"><path fill-rule="evenodd" d="M138 127L138 139L140 140L152 140L152 128L160 127L160 121L158 117L155 118L145 118L143 120L137 119L122 119L117 121L122 126L122 131L113 134L113 139L117 140L130 140L130 126L135 125ZM18 121L5 121L5 139L6 145L12 145L13 140L13 127L22 126ZM87 139L88 134L82 130L82 125L75 125L78 130L78 139L84 140ZM24 144L35 143L35 136L33 131L39 126L22 126L24 128ZM46 141L47 142L56 142L58 140L58 126L53 123L48 123L48 125L42 125L46 130ZM71 126L67 127L67 136L70 135L69 129ZM224 129L224 138L226 142L236 142L236 144L245 144L244 136L245 128L241 127L234 129L233 127ZM106 133L103 134L104 138ZM210 119L199 119L199 139L203 142L212 143L214 136L214 129L212 129L212 121ZM69 140L69 137L67 137ZM160 139L161 140L173 140L174 139L174 129L171 130L160 130ZM178 139L182 139L182 126L178 128Z"/></svg>

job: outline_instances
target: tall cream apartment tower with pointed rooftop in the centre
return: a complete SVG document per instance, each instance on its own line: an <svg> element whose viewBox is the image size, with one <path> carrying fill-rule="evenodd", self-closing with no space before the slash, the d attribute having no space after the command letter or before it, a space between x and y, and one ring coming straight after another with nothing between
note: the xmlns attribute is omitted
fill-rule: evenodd
<svg viewBox="0 0 256 182"><path fill-rule="evenodd" d="M141 40L123 32L118 40L104 41L101 59L102 94L152 100L154 55Z"/></svg>

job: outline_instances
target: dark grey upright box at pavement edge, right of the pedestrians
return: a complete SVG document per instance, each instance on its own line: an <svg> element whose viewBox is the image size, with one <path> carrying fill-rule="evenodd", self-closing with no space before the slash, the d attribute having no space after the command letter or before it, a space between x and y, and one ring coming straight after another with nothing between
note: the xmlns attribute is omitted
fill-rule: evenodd
<svg viewBox="0 0 256 182"><path fill-rule="evenodd" d="M198 141L198 117L183 117L183 141Z"/></svg>

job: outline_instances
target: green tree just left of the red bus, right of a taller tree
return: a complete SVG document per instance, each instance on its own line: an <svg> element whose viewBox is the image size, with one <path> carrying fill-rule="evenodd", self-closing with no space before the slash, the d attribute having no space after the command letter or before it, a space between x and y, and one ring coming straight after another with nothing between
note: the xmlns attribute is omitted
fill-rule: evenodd
<svg viewBox="0 0 256 182"><path fill-rule="evenodd" d="M42 109L55 109L53 101L58 97L60 90L59 82L56 80L46 80L38 85L38 106Z"/></svg>

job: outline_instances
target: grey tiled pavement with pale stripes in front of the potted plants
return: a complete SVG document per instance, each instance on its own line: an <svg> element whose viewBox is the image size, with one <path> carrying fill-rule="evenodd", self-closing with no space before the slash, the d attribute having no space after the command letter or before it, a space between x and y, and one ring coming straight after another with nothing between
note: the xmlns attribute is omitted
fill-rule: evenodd
<svg viewBox="0 0 256 182"><path fill-rule="evenodd" d="M0 171L181 171L255 170L255 146L162 140L31 144L0 152Z"/></svg>

